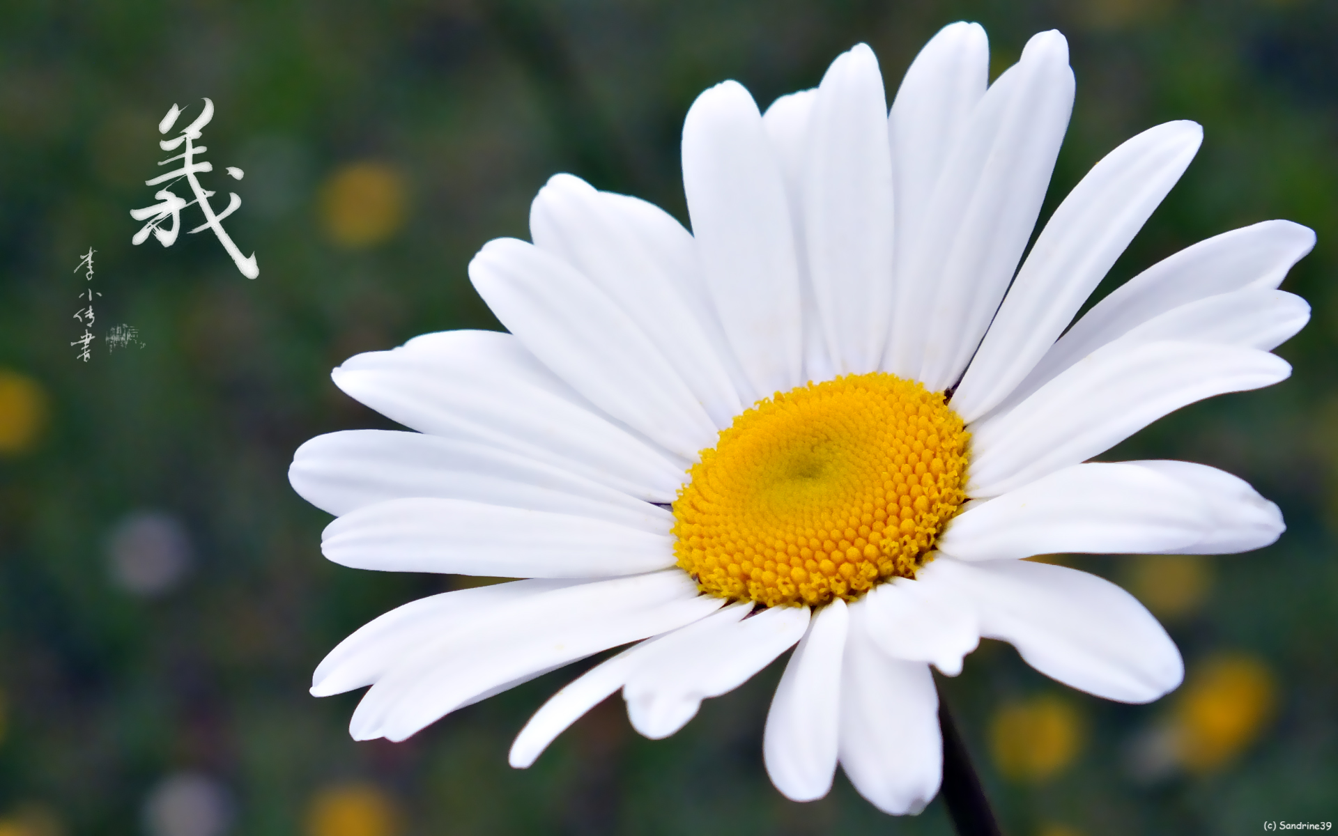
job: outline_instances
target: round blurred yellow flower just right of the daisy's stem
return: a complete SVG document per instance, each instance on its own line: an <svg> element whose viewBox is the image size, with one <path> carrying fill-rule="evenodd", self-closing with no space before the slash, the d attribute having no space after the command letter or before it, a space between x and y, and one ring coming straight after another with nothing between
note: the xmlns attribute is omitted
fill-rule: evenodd
<svg viewBox="0 0 1338 836"><path fill-rule="evenodd" d="M1085 733L1077 709L1053 694L1008 704L990 724L994 762L1008 778L1045 781L1073 762Z"/></svg>

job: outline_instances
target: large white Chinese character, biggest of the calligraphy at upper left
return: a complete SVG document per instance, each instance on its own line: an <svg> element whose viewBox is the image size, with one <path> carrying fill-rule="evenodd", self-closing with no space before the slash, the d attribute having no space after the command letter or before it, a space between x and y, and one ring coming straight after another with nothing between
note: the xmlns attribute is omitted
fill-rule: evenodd
<svg viewBox="0 0 1338 836"><path fill-rule="evenodd" d="M179 115L181 115L181 108L173 104L171 110L167 111L167 115L163 116L162 122L158 123L158 132L166 134L167 131L170 131L171 127L177 123L177 116ZM199 206L201 211L205 213L205 222L197 226L195 229L189 230L186 234L194 234L205 229L214 230L214 235L218 237L218 242L222 243L223 249L227 250L227 254L233 257L233 264L237 265L237 269L241 270L242 276L245 276L246 278L256 278L257 276L260 276L260 266L257 266L256 264L256 254L252 253L249 257L244 258L242 251L237 249L237 245L233 243L233 239L227 235L226 231L223 231L223 225L222 225L222 219L237 211L237 207L242 205L242 199L237 195L237 193L229 191L227 209L225 209L218 214L214 214L213 206L209 205L209 198L214 197L215 193L206 191L199 185L199 179L195 178L197 174L214 170L213 163L195 161L197 154L203 154L209 148L205 146L194 144L194 142L202 136L201 130L206 124L209 124L209 120L213 118L214 118L214 103L210 102L209 99L205 99L205 111L199 115L198 119L191 122L189 127L183 128L179 136L177 136L175 139L159 140L158 147L161 147L163 151L175 151L178 147L182 146L182 143L185 143L186 147L177 156L169 156L167 159L159 162L158 165L166 166L167 163L177 162L178 159L182 161L182 165L181 169L174 169L167 174L161 174L153 179L145 181L146 186L157 186L159 183L166 183L167 181L171 181L171 183L169 183L166 189L162 189L154 195L154 198L162 201L161 203L157 203L154 206L146 206L143 209L131 210L130 213L131 218L134 218L135 221L149 221L149 222L145 223L145 226L138 233L135 233L135 237L131 238L130 241L131 243L138 246L145 241L147 241L149 234L153 233L154 238L158 239L158 243L163 245L165 247L171 246L177 241L177 233L181 225L181 211L187 206L190 206L191 203L195 203ZM231 177L233 179L240 181L242 179L242 170L229 166L227 175ZM175 185L177 181L179 181L181 178L186 178L186 182L190 183L190 190L195 195L195 199L193 201L182 199L177 197L177 194L171 190L171 186ZM171 226L167 229L162 229L162 223L167 218L171 218Z"/></svg>

